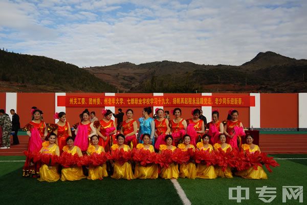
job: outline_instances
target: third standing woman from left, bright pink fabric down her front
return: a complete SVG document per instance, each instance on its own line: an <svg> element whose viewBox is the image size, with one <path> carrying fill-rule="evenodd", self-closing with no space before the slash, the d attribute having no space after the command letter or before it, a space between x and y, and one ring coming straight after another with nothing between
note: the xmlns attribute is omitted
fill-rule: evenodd
<svg viewBox="0 0 307 205"><path fill-rule="evenodd" d="M81 122L77 124L74 145L79 147L81 151L85 153L89 147L91 136L96 135L96 129L94 128L93 123L90 121L89 110L85 109L79 116L81 118Z"/></svg>

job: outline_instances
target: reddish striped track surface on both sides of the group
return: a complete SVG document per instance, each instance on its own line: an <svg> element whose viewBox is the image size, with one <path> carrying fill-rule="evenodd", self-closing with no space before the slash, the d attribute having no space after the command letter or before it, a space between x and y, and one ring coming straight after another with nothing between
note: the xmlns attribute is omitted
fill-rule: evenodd
<svg viewBox="0 0 307 205"><path fill-rule="evenodd" d="M0 149L0 156L23 156L28 149L28 136L18 136L19 145L11 146L11 149ZM268 154L307 154L307 135L280 135L261 134L261 152Z"/></svg>

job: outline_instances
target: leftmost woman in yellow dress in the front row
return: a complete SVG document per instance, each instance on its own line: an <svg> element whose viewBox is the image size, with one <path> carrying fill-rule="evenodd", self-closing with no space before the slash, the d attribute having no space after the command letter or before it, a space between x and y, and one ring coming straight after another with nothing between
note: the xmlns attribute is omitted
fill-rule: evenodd
<svg viewBox="0 0 307 205"><path fill-rule="evenodd" d="M56 134L51 133L49 135L48 141L42 143L42 148L40 149L40 153L42 154L50 154L50 155L57 155L60 156L59 147L55 144L56 141ZM39 175L40 178L37 180L39 181L48 181L54 182L60 179L60 174L58 173L58 165L56 166L48 166L43 164L39 168Z"/></svg>

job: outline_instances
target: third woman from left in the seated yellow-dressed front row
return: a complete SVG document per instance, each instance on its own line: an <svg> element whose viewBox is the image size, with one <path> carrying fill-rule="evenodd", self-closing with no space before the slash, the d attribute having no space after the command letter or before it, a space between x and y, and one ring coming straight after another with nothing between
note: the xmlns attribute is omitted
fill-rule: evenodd
<svg viewBox="0 0 307 205"><path fill-rule="evenodd" d="M87 148L87 155L92 155L93 153L100 154L101 152L104 152L103 147L98 145L99 137L97 135L93 135L91 137L91 145L89 148ZM89 168L89 176L87 176L87 179L102 179L103 177L107 177L106 172L106 163L100 166L90 166Z"/></svg>

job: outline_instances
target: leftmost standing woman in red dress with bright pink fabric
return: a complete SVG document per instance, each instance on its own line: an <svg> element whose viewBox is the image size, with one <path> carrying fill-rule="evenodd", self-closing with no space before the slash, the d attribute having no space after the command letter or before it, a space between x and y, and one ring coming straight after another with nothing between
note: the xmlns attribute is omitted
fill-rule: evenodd
<svg viewBox="0 0 307 205"><path fill-rule="evenodd" d="M39 109L31 110L33 120L29 122L23 129L27 131L29 136L28 152L39 152L41 144L45 141L48 131L44 121L41 120L42 111ZM26 158L26 162L23 168L23 176L36 177L39 174L39 163L34 163L29 157Z"/></svg>

